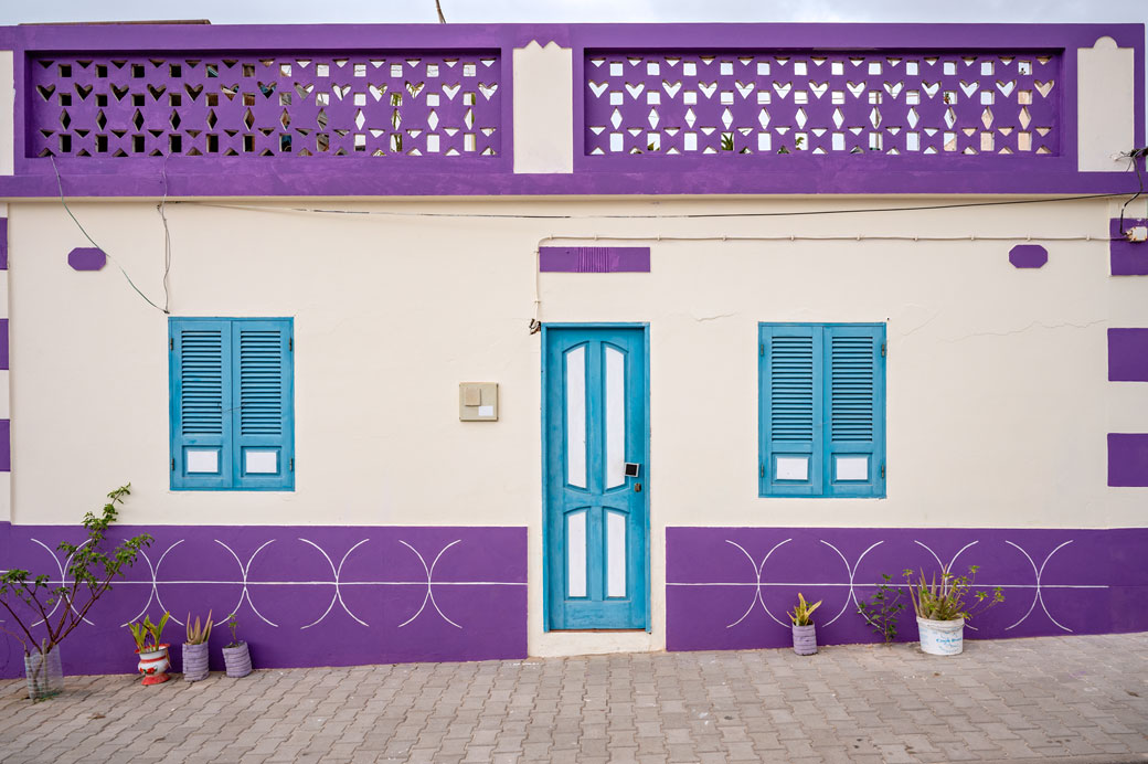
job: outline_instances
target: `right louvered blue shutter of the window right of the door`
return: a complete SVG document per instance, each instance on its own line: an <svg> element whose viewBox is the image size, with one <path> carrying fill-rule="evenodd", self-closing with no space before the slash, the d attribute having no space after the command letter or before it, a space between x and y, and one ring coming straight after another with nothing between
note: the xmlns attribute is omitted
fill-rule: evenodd
<svg viewBox="0 0 1148 764"><path fill-rule="evenodd" d="M884 344L884 325L825 327L825 495L885 495Z"/></svg>

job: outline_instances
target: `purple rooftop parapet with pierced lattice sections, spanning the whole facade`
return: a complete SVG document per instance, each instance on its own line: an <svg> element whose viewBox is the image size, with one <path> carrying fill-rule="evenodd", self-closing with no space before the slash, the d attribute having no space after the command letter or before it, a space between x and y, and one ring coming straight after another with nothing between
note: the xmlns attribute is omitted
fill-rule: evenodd
<svg viewBox="0 0 1148 764"><path fill-rule="evenodd" d="M20 147L0 195L56 195L45 152L80 196L1134 192L1131 171L1077 167L1076 51L1101 37L1134 53L1140 145L1142 24L0 28L15 52ZM573 173L513 172L513 51L535 40L569 46L576 62ZM460 106L449 64L475 55L496 61L475 79L497 90ZM687 57L697 72L674 75Z"/></svg>

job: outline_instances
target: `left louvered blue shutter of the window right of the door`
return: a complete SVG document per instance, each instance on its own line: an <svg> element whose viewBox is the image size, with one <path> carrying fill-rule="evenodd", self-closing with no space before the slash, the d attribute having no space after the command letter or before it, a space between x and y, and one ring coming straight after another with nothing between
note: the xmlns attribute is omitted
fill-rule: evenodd
<svg viewBox="0 0 1148 764"><path fill-rule="evenodd" d="M761 326L762 495L821 495L822 334L820 325Z"/></svg>

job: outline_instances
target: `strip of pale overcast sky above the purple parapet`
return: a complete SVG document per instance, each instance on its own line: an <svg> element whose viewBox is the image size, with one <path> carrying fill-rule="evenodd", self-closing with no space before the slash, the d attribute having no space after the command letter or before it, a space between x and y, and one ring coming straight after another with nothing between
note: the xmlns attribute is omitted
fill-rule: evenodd
<svg viewBox="0 0 1148 764"><path fill-rule="evenodd" d="M441 0L448 22L1140 22L1148 0ZM434 22L434 0L0 0L0 24Z"/></svg>

